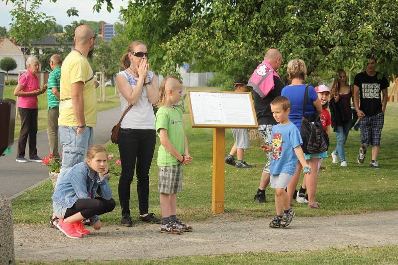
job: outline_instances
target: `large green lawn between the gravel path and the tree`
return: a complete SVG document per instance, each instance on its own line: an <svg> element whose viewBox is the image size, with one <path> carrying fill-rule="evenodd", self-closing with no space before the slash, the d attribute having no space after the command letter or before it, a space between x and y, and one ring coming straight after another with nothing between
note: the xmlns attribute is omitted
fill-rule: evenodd
<svg viewBox="0 0 398 265"><path fill-rule="evenodd" d="M186 102L186 104L188 104ZM188 110L186 106L186 110ZM389 103L383 129L382 146L379 156L381 169L369 168L370 152L363 165L357 163L360 134L351 131L346 144L347 168L332 164L331 158L323 162L325 169L318 178L317 201L323 209L310 210L305 204L295 203L298 216L320 216L336 214L356 214L377 210L398 209L398 168L397 168L397 103ZM212 129L193 129L189 113L184 114L184 123L189 141L189 149L194 161L184 167L183 192L178 195L178 214L183 220L200 221L214 216L211 213L211 174L212 174ZM330 151L336 142L335 133L331 133ZM227 154L233 144L231 130L226 130ZM252 141L252 147L246 151L245 160L254 165L252 169L237 169L225 165L225 213L238 219L273 216L274 191L267 188L265 204L255 203L261 172L266 161L259 146L262 140ZM157 149L155 149L150 170L150 212L160 216L158 194L158 167L156 165ZM119 157L117 145L109 144L107 149ZM370 149L369 149L370 150ZM43 167L43 174L47 174ZM302 176L301 176L302 178ZM134 177L135 179L135 177ZM113 212L105 214L102 219L106 224L120 222L120 206L117 195L118 177L112 177L110 185L113 197L117 202ZM301 181L299 182L299 185ZM131 185L131 215L134 222L138 220L136 181ZM45 224L51 209L53 189L50 182L27 191L12 200L15 223Z"/></svg>

